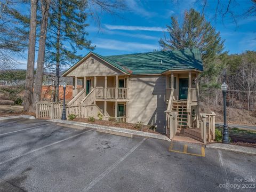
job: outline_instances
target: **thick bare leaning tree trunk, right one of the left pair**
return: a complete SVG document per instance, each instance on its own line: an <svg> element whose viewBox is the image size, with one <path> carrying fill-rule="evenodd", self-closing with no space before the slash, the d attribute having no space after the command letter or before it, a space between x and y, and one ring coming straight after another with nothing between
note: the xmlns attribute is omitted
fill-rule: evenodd
<svg viewBox="0 0 256 192"><path fill-rule="evenodd" d="M37 55L36 81L35 81L34 100L33 100L34 110L36 107L36 102L41 100L44 57L45 57L45 41L46 41L47 22L49 18L50 3L51 3L51 0L41 0L42 23L41 23L41 29L40 29L39 49L38 49L38 55Z"/></svg>

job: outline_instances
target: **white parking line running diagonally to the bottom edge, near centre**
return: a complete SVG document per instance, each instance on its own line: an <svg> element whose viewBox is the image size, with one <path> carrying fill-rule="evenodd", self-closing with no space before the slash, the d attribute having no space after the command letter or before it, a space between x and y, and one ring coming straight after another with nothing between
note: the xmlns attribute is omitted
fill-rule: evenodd
<svg viewBox="0 0 256 192"><path fill-rule="evenodd" d="M106 171L104 171L103 173L101 173L97 178L95 178L92 182L90 182L90 184L85 187L83 189L84 192L89 191L96 183L98 183L101 179L103 179L110 171L112 171L113 169L115 169L115 167L117 165L119 165L120 163L122 163L124 161L124 159L126 159L126 157L128 157L129 155L132 154L132 152L137 149L147 138L142 139L137 145L135 145L130 151L128 151L127 154L125 154L125 156L123 156L121 159L119 159L117 162L115 162L113 165L111 165L110 167L108 167L108 169Z"/></svg>

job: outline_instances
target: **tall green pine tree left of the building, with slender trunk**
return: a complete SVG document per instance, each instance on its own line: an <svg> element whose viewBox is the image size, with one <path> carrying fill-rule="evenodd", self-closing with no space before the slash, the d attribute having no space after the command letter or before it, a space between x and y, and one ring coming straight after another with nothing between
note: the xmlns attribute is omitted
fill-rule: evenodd
<svg viewBox="0 0 256 192"><path fill-rule="evenodd" d="M93 50L86 39L87 4L79 0L53 0L50 10L49 34L47 35L47 67L55 66L55 97L59 100L60 69L81 59L77 49Z"/></svg>

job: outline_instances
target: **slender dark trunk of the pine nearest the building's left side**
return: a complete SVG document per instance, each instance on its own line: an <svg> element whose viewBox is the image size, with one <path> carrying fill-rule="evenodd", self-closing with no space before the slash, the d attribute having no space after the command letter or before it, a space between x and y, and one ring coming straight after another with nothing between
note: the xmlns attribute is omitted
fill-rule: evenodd
<svg viewBox="0 0 256 192"><path fill-rule="evenodd" d="M60 85L60 27L61 27L61 9L62 1L59 1L58 10L58 31L56 41L56 81L55 81L55 101L59 101L59 85Z"/></svg>

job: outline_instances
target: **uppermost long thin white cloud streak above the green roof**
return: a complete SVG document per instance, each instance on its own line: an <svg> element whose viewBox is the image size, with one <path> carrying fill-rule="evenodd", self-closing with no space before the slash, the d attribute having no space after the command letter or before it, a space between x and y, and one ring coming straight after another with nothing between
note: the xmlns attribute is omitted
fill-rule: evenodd
<svg viewBox="0 0 256 192"><path fill-rule="evenodd" d="M146 27L146 26L121 26L121 25L107 25L105 27L110 30L145 30L145 31L166 31L162 27Z"/></svg>

